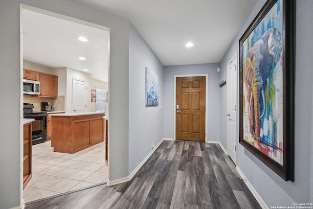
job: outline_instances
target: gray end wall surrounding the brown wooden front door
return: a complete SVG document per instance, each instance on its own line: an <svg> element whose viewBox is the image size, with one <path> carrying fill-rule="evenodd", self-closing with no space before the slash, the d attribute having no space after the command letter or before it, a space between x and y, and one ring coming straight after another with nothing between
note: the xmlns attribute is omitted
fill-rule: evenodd
<svg viewBox="0 0 313 209"><path fill-rule="evenodd" d="M164 67L164 138L174 138L174 75L182 74L208 74L208 140L220 140L220 72L217 72L219 64L200 64ZM226 148L226 146L224 146Z"/></svg>

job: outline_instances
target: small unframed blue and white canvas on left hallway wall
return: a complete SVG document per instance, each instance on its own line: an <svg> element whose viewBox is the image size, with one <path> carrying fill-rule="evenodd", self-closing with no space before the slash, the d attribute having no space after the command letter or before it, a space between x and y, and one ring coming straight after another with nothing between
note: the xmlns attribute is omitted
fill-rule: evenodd
<svg viewBox="0 0 313 209"><path fill-rule="evenodd" d="M146 107L158 106L158 76L146 67Z"/></svg>

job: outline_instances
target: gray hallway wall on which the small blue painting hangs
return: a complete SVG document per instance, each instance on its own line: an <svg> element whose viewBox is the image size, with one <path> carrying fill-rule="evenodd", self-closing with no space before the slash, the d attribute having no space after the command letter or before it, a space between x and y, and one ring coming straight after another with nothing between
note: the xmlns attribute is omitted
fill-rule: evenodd
<svg viewBox="0 0 313 209"><path fill-rule="evenodd" d="M130 23L129 38L129 174L162 139L164 67ZM159 105L146 107L145 68L158 75Z"/></svg>

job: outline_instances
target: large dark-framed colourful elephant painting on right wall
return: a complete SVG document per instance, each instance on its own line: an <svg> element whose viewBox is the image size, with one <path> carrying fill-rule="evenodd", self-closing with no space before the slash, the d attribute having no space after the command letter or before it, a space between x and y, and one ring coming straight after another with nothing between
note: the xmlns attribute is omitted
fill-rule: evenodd
<svg viewBox="0 0 313 209"><path fill-rule="evenodd" d="M268 0L239 41L239 142L294 180L293 0Z"/></svg>

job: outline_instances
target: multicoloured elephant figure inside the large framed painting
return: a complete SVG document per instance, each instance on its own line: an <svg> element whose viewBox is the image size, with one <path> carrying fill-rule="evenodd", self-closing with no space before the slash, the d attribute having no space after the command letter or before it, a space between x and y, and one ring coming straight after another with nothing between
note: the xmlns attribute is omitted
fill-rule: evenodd
<svg viewBox="0 0 313 209"><path fill-rule="evenodd" d="M282 56L281 33L271 27L249 48L244 57L244 76L247 90L247 115L253 139L262 142L261 118L266 110L265 87L268 77Z"/></svg>

